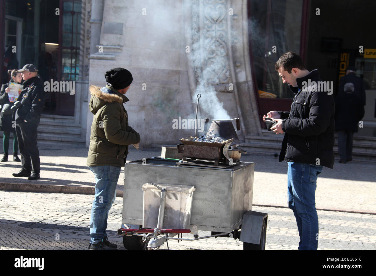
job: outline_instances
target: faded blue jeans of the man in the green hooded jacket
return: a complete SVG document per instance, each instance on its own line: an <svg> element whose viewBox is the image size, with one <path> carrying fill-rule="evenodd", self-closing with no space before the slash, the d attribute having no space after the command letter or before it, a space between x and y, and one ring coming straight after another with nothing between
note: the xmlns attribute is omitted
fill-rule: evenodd
<svg viewBox="0 0 376 276"><path fill-rule="evenodd" d="M107 217L116 197L116 185L121 167L118 166L91 166L94 172L96 185L95 196L91 208L90 243L96 244L107 237Z"/></svg>

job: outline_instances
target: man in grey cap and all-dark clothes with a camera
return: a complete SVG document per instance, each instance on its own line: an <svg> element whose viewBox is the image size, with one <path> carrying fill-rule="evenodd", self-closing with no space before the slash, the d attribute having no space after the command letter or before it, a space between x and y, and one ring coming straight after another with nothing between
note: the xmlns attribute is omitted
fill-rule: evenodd
<svg viewBox="0 0 376 276"><path fill-rule="evenodd" d="M22 169L18 173L13 173L13 176L26 176L29 180L36 180L40 178L41 170L36 128L44 106L44 84L33 64L26 64L18 71L24 80L23 90L12 109L15 110L14 119Z"/></svg>

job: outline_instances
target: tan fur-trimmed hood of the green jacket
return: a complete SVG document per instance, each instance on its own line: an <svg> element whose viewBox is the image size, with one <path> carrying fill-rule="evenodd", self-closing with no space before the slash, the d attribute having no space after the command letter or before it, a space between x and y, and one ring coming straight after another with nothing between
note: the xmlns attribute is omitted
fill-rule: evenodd
<svg viewBox="0 0 376 276"><path fill-rule="evenodd" d="M89 106L93 114L107 103L119 103L122 105L129 101L125 95L120 94L110 86L100 88L99 86L91 85L89 90L91 94Z"/></svg>

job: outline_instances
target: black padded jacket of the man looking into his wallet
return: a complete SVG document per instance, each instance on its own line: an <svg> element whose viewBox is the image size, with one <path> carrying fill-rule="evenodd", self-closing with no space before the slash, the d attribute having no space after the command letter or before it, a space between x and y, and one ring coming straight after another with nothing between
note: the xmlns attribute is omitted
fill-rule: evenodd
<svg viewBox="0 0 376 276"><path fill-rule="evenodd" d="M327 92L314 87L302 90L303 81L321 81L318 69L297 78L290 112L281 115L285 137L279 161L314 164L333 169L334 164L334 100Z"/></svg>

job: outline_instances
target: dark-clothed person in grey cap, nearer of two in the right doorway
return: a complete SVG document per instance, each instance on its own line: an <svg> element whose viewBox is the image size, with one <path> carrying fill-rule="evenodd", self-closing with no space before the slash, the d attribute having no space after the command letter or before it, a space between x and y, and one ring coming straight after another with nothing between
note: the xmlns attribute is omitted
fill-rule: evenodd
<svg viewBox="0 0 376 276"><path fill-rule="evenodd" d="M354 84L346 83L335 98L335 130L338 131L338 154L340 163L352 160L353 134L358 132L358 123L364 116L364 105L354 94Z"/></svg>

